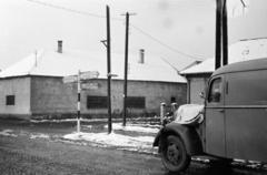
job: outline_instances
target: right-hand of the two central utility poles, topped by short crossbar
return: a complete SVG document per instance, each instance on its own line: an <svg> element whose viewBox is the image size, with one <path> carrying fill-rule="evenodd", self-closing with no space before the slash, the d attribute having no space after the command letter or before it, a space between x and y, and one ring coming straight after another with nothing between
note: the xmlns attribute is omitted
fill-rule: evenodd
<svg viewBox="0 0 267 175"><path fill-rule="evenodd" d="M123 14L125 16L125 14ZM126 13L126 44L125 44L125 89L123 89L123 123L126 126L127 119L127 76L128 76L128 45L129 45L129 12Z"/></svg>

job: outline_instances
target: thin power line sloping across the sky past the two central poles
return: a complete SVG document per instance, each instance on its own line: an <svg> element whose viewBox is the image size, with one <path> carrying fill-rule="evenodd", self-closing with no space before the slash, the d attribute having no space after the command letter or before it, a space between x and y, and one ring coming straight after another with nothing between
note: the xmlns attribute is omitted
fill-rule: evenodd
<svg viewBox="0 0 267 175"><path fill-rule="evenodd" d="M50 7L50 8L53 8L53 9L59 9L59 10L65 10L65 11L68 11L68 12L72 12L72 13L78 13L78 14L82 14L82 16L89 16L89 17L93 17L93 18L101 18L101 19L106 19L106 16L101 16L101 14L96 14L96 13L90 13L90 12L86 12L86 11L79 11L79 10L75 10L75 9L70 9L70 8L66 8L66 7L62 7L62 6L57 6L57 4L52 4L52 3L47 3L47 2L43 2L43 1L39 1L39 0L27 0L29 2L33 2L33 3L37 3L37 4L41 4L41 6L46 6L46 7ZM110 18L111 20L116 20L116 21L123 21L123 19L120 19L120 18ZM181 54L184 56L187 56L187 58L190 58L190 59L194 59L194 60L200 60L199 58L195 56L195 55L191 55L191 54L188 54L188 53L185 53L185 52L181 52L166 43L164 43L162 41L160 41L159 39L155 38L154 35L149 34L148 32L144 31L142 29L134 25L134 24L130 24L136 31L139 31L141 34L146 35L147 38L154 40L155 42L157 42L158 44L160 44L161 47L165 47L167 49L169 49L170 51L175 52L175 53L178 53L178 54Z"/></svg>

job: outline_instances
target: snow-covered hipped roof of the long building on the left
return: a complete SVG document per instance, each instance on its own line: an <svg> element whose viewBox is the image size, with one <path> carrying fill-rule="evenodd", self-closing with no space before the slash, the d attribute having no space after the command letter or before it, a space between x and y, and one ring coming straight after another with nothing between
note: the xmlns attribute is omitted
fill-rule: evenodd
<svg viewBox="0 0 267 175"><path fill-rule="evenodd" d="M160 58L145 55L145 63L137 63L138 55L129 55L128 80L137 81L161 81L186 83L175 69L164 62ZM99 79L107 79L107 54L97 52L83 52L73 50L38 51L22 59L10 68L0 72L0 78L43 75L67 76L78 73L78 70L98 71ZM111 53L111 73L122 80L125 71L125 58Z"/></svg>

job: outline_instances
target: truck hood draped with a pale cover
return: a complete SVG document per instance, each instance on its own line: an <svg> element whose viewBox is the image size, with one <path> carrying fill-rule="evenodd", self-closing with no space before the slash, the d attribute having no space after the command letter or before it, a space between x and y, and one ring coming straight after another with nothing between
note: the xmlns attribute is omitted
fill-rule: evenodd
<svg viewBox="0 0 267 175"><path fill-rule="evenodd" d="M184 104L175 112L175 121L179 124L199 124L204 121L204 105Z"/></svg>

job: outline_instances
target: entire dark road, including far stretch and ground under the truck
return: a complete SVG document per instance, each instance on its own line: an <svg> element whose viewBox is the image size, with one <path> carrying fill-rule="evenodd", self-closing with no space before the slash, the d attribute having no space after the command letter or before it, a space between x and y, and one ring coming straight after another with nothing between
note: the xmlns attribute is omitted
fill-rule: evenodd
<svg viewBox="0 0 267 175"><path fill-rule="evenodd" d="M29 132L68 133L72 125L53 127L34 124L0 123L0 130L12 128L18 135L0 135L0 174L3 175L168 175L160 158L152 154L96 147L82 142L29 136ZM71 127L71 128L70 128ZM192 162L182 175L264 175L263 169L215 167Z"/></svg>

